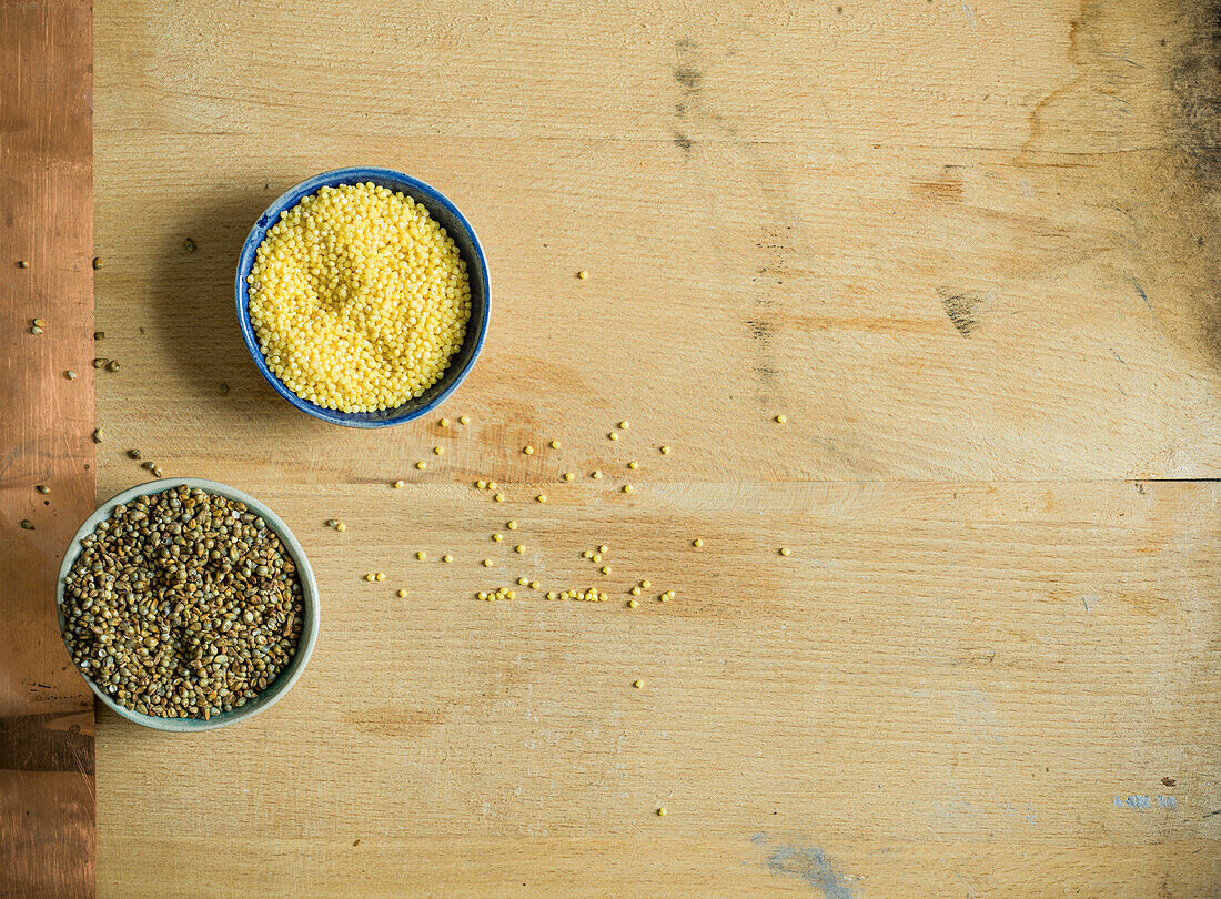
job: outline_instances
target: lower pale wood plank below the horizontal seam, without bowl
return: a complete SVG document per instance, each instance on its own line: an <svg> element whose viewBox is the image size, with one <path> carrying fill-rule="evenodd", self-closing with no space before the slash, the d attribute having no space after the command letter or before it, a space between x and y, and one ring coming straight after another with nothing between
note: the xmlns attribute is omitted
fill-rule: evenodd
<svg viewBox="0 0 1221 899"><path fill-rule="evenodd" d="M317 651L203 740L101 719L109 892L166 889L182 868L153 859L220 840L232 881L199 865L186 894L779 890L816 851L862 895L915 857L913 888L955 871L980 895L1053 870L1085 894L1221 876L1216 484L581 486L546 507L241 486L314 561ZM505 515L521 556L488 539ZM580 557L600 541L607 577ZM519 575L610 600L473 599Z"/></svg>

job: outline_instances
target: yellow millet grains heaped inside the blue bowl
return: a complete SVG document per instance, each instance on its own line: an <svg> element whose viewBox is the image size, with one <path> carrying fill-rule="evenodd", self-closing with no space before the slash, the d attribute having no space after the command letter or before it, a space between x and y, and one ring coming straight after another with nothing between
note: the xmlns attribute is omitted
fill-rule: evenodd
<svg viewBox="0 0 1221 899"><path fill-rule="evenodd" d="M421 396L470 320L453 238L410 197L371 182L324 187L281 213L247 285L267 366L297 396L341 412Z"/></svg>

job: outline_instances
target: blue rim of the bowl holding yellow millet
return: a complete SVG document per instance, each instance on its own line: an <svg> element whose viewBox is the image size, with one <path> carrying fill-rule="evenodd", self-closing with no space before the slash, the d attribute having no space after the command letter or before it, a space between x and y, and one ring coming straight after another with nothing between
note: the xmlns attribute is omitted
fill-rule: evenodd
<svg viewBox="0 0 1221 899"><path fill-rule="evenodd" d="M293 391L291 391L287 385L284 385L284 382L276 376L276 374L267 366L267 360L264 358L263 351L259 348L259 338L254 333L254 325L250 322L249 292L245 283L247 275L249 275L250 269L254 266L254 258L259 250L259 244L263 243L263 238L266 236L266 232L280 219L280 214L282 211L292 209L303 198L317 193L324 187L358 184L371 178L382 178L385 181L396 182L398 191L402 191L415 199L419 199L420 195L427 197L433 203L448 210L463 230L470 236L471 247L475 250L475 259L468 260L468 263L474 261L476 264L476 268L479 269L477 276L484 288L484 314L479 319L479 329L475 335L475 347L470 354L470 359L466 360L466 364L463 365L463 368L453 376L444 388L437 393L437 396L421 406L419 409L403 413L402 415L377 420L353 419L348 418L348 413L339 412L338 409L324 409L321 406L316 406L293 393ZM259 222L264 219L267 219L267 224L266 226L260 226ZM430 412L436 409L446 399L448 399L459 386L462 386L462 382L466 380L466 375L469 375L470 370L475 368L475 362L479 359L479 355L484 349L484 341L487 338L488 322L492 318L492 285L487 272L487 257L484 253L484 244L480 242L479 235L475 232L475 226L470 224L453 200L427 182L413 178L410 175L394 169L379 169L371 166L349 166L347 169L332 169L331 171L320 172L310 178L305 178L305 181L298 182L280 194L280 197L277 197L271 205L263 210L263 213L254 220L254 225L250 227L250 231L245 237L245 242L242 244L242 252L238 254L237 260L237 277L234 281L233 293L234 299L237 300L237 320L238 327L242 331L242 340L245 342L247 352L250 353L250 358L254 360L254 365L259 370L259 374L263 375L264 380L271 385L276 393L287 399L288 403L297 409L300 409L316 419L321 419L322 421L342 425L344 428L391 428L393 425L405 424L407 421L414 421L415 419L427 415ZM469 325L470 322L468 322L468 326ZM442 375L442 380L444 377L446 375Z"/></svg>

